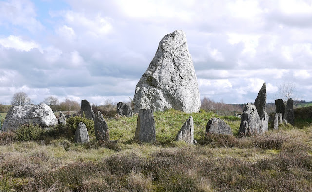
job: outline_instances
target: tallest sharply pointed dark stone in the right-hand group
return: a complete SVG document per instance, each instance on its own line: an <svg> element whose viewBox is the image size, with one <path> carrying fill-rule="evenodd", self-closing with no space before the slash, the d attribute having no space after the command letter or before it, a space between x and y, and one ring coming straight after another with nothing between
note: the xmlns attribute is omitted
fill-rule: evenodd
<svg viewBox="0 0 312 192"><path fill-rule="evenodd" d="M264 133L268 130L268 124L269 124L269 115L266 112L266 106L267 106L267 86L264 82L257 98L254 101L254 106L256 107L260 120L261 120L261 129L259 130L259 133Z"/></svg>

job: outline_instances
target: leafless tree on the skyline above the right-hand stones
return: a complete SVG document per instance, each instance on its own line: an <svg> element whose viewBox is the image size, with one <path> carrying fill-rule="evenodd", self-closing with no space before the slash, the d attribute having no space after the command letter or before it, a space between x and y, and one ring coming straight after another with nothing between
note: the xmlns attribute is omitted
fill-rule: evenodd
<svg viewBox="0 0 312 192"><path fill-rule="evenodd" d="M278 92L276 94L276 99L282 99L287 101L287 99L292 98L295 99L296 95L296 84L293 82L286 82L284 81L278 87Z"/></svg>

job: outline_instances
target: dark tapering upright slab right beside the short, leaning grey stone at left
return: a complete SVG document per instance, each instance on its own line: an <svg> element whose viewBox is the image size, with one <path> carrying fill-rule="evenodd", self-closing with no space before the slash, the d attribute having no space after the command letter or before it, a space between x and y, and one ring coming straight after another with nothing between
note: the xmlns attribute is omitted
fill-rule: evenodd
<svg viewBox="0 0 312 192"><path fill-rule="evenodd" d="M96 135L96 140L109 140L107 122L103 118L103 115L100 111L96 112L94 116L94 132Z"/></svg>

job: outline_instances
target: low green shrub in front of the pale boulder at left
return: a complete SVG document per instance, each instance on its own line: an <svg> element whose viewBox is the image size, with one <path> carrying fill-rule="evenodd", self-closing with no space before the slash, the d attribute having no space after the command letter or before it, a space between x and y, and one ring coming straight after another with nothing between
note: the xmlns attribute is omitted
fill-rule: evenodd
<svg viewBox="0 0 312 192"><path fill-rule="evenodd" d="M13 131L19 141L40 140L44 130L38 124L23 124Z"/></svg>

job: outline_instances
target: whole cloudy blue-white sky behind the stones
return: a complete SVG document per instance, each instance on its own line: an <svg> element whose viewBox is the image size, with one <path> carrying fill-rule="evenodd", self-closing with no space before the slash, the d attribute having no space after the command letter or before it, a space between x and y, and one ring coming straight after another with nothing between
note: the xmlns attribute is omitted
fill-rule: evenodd
<svg viewBox="0 0 312 192"><path fill-rule="evenodd" d="M312 101L311 0L0 0L0 104L130 101L159 41L186 33L201 98Z"/></svg>

